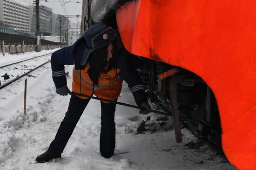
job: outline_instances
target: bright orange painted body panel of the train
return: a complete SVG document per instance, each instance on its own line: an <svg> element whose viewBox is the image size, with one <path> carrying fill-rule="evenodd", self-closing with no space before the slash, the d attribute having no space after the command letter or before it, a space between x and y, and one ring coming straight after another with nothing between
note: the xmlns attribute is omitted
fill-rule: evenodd
<svg viewBox="0 0 256 170"><path fill-rule="evenodd" d="M202 77L216 96L226 157L256 170L255 0L134 0L116 19L129 52Z"/></svg>

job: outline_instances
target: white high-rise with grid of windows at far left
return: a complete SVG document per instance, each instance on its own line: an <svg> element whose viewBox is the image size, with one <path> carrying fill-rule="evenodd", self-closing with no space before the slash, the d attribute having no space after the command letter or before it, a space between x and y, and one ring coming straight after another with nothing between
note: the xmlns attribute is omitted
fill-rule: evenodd
<svg viewBox="0 0 256 170"><path fill-rule="evenodd" d="M0 0L0 26L29 33L29 6L13 0Z"/></svg>

